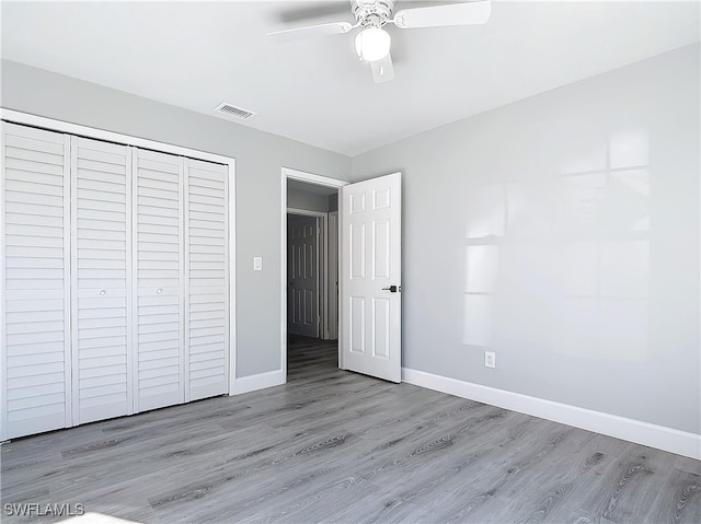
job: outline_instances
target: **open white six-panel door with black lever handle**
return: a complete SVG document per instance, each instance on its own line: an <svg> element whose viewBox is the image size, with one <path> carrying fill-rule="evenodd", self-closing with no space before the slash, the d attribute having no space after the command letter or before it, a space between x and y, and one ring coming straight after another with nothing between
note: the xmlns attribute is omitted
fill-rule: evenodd
<svg viewBox="0 0 701 524"><path fill-rule="evenodd" d="M402 380L401 173L341 189L344 370Z"/></svg>

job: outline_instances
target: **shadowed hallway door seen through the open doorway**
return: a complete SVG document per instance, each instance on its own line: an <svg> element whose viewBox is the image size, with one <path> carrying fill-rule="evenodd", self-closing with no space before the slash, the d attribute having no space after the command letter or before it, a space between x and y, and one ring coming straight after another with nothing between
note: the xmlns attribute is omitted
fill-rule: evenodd
<svg viewBox="0 0 701 524"><path fill-rule="evenodd" d="M319 337L319 219L288 216L288 331Z"/></svg>

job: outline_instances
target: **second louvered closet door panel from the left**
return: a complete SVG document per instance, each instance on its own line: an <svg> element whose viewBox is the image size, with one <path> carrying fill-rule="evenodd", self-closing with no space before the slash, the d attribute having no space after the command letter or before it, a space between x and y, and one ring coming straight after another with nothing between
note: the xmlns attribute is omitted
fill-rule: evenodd
<svg viewBox="0 0 701 524"><path fill-rule="evenodd" d="M73 423L131 414L131 149L71 139Z"/></svg>

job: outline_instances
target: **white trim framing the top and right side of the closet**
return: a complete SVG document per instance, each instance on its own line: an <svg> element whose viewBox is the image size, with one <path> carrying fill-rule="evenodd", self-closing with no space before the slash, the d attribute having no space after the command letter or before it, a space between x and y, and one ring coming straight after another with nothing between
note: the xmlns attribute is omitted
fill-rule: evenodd
<svg viewBox="0 0 701 524"><path fill-rule="evenodd" d="M105 140L107 142L117 142L126 145L135 145L142 149L151 149L163 153L176 154L180 156L189 156L192 159L205 160L225 164L229 167L229 395L235 394L235 362L237 362L237 308L235 308L235 159L223 156L216 153L197 151L195 149L183 148L171 143L158 142L145 138L133 137L118 132L105 131L94 127L81 126L79 124L70 124L67 121L46 118L43 116L31 115L13 109L0 107L0 119L21 124L24 126L33 126L48 129L51 131L78 135L81 137Z"/></svg>

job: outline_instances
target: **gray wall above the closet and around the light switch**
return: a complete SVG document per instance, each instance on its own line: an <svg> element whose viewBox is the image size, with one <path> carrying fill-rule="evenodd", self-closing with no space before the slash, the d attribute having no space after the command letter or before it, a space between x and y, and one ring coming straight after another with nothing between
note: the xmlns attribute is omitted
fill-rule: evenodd
<svg viewBox="0 0 701 524"><path fill-rule="evenodd" d="M280 368L280 170L347 179L349 158L8 60L1 93L9 109L234 158L237 375Z"/></svg>

